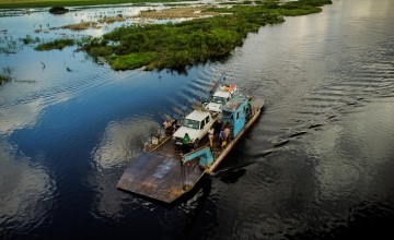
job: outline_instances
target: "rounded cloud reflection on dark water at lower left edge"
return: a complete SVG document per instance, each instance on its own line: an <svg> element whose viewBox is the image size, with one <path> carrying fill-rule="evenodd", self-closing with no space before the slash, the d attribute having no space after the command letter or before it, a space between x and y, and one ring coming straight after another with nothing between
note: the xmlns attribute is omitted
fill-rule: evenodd
<svg viewBox="0 0 394 240"><path fill-rule="evenodd" d="M55 183L42 166L28 161L28 157L16 156L15 148L0 139L2 227L19 226L14 230L23 231L50 217Z"/></svg>

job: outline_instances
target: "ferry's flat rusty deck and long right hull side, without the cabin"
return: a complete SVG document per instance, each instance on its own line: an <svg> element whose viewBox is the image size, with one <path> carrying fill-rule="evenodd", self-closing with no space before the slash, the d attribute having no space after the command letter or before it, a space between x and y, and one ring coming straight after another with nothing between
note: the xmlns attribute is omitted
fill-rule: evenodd
<svg viewBox="0 0 394 240"><path fill-rule="evenodd" d="M252 103L251 116L230 143L221 148L209 147L206 136L197 149L181 155L171 136L158 140L132 158L120 177L117 188L142 196L172 203L190 191L205 173L212 173L242 135L253 125L264 106L260 98ZM218 134L215 136L218 141ZM204 165L201 164L204 160Z"/></svg>

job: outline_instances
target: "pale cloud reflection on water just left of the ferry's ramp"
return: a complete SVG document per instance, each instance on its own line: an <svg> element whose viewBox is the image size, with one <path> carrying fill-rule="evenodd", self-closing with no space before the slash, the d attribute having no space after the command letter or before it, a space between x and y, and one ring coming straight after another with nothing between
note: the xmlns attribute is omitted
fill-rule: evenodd
<svg viewBox="0 0 394 240"><path fill-rule="evenodd" d="M150 119L128 119L123 122L112 122L105 130L101 143L93 149L93 160L99 172L89 177L90 184L96 191L91 214L97 219L103 216L112 219L121 218L121 205L140 201L120 193L116 184L130 159L142 149L142 142L149 139L151 132L160 125ZM136 206L149 209L151 203L141 201Z"/></svg>

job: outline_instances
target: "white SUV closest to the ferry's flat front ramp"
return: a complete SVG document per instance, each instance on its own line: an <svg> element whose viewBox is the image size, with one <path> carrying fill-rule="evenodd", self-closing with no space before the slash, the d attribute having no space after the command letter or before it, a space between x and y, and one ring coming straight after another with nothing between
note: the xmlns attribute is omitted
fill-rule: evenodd
<svg viewBox="0 0 394 240"><path fill-rule="evenodd" d="M215 119L209 111L194 110L182 122L182 127L176 130L173 140L176 145L182 145L182 140L187 133L190 137L190 144L197 147L199 141L208 133Z"/></svg>

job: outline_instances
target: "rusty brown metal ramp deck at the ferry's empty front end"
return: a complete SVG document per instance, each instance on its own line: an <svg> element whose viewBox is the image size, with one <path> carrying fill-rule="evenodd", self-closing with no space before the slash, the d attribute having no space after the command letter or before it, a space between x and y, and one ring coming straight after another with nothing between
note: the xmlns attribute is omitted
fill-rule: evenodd
<svg viewBox="0 0 394 240"><path fill-rule="evenodd" d="M193 189L202 177L198 166L181 166L171 141L154 152L143 152L125 169L117 188L171 203Z"/></svg>

